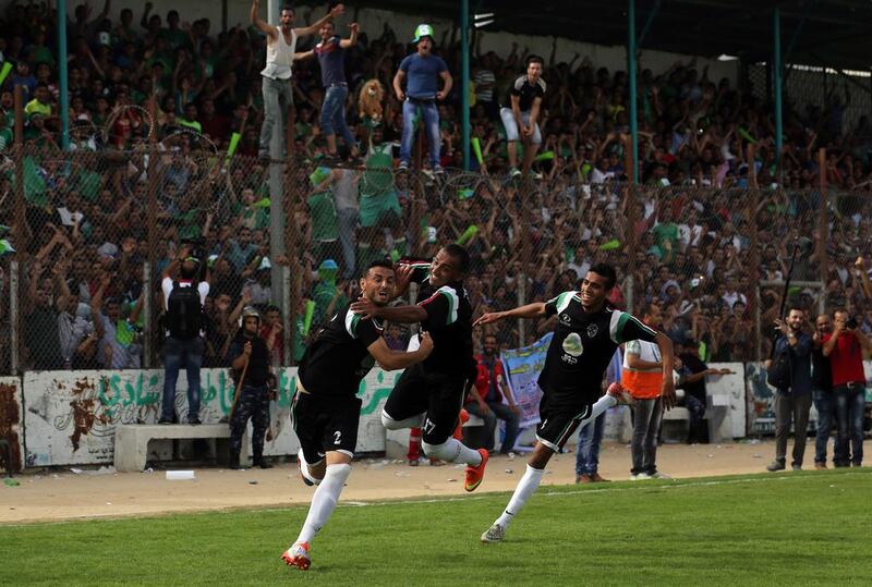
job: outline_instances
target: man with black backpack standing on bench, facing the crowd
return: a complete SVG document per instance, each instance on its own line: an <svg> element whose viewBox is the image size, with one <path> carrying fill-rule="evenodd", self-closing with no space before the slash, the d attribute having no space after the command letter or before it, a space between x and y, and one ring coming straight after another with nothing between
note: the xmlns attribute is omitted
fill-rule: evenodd
<svg viewBox="0 0 872 587"><path fill-rule="evenodd" d="M201 280L204 262L196 242L183 242L175 259L164 270L164 399L158 424L174 424L175 381L187 372L187 424L199 421L199 368L203 365L208 281ZM199 247L198 247L199 248ZM177 276L178 277L174 277Z"/></svg>

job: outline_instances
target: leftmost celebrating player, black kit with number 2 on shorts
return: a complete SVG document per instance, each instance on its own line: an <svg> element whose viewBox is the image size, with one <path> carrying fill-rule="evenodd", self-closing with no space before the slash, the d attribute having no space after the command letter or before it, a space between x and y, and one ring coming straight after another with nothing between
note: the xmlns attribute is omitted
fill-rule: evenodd
<svg viewBox="0 0 872 587"><path fill-rule="evenodd" d="M388 260L370 264L360 282L362 298L382 307L393 296L396 276ZM306 347L298 371L291 418L300 439L298 466L306 485L317 485L303 529L282 560L305 571L312 563L310 542L330 517L351 473L358 443L361 379L378 362L383 369L402 369L433 351L425 332L411 353L391 351L376 317L363 318L343 307Z"/></svg>

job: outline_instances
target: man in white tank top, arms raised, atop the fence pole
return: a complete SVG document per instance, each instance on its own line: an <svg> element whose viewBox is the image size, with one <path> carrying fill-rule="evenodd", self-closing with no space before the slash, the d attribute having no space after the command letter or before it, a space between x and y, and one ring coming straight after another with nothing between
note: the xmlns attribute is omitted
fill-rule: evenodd
<svg viewBox="0 0 872 587"><path fill-rule="evenodd" d="M253 0L251 22L267 36L266 68L261 72L264 78L264 124L261 126L261 147L257 155L269 157L272 126L275 126L277 120L281 120L283 131L288 124L288 109L293 106L291 64L296 49L296 40L300 37L307 37L317 33L322 25L342 14L344 7L337 4L318 22L303 28L293 28L295 11L291 7L281 9L279 26L262 21L258 10L258 0Z"/></svg>

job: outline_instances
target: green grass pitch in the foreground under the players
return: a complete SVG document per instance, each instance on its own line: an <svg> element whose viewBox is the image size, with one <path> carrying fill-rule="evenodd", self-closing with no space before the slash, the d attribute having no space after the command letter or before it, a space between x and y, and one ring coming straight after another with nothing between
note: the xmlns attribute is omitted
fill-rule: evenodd
<svg viewBox="0 0 872 587"><path fill-rule="evenodd" d="M307 572L279 560L306 507L0 526L0 585L869 585L872 469L542 487L346 504Z"/></svg>

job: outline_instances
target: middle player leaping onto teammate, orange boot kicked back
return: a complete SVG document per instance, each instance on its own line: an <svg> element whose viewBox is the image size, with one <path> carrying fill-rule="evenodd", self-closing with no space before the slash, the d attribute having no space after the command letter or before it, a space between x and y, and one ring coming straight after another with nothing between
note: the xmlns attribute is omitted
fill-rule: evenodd
<svg viewBox="0 0 872 587"><path fill-rule="evenodd" d="M351 309L390 322L421 322L433 337L433 354L400 376L385 402L382 424L389 430L421 427L424 454L465 463L464 488L474 491L484 478L487 451L474 451L452 438L468 386L477 372L472 353L472 306L462 282L469 266L465 248L446 245L433 262L401 264L397 269L398 295L411 281L421 284L416 305L387 307L361 299Z"/></svg>

